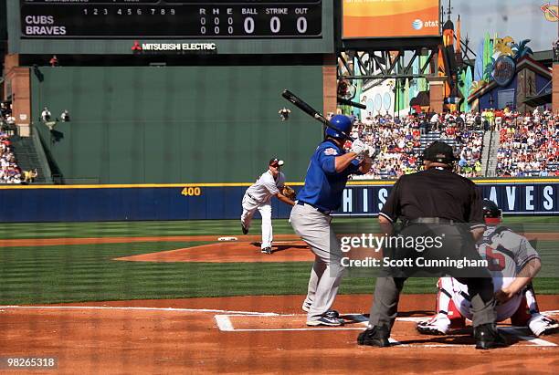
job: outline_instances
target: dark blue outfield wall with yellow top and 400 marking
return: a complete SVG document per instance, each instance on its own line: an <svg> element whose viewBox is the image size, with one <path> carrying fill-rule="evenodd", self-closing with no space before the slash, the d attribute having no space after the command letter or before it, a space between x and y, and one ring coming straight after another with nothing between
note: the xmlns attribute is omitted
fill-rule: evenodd
<svg viewBox="0 0 559 375"><path fill-rule="evenodd" d="M350 182L337 213L374 216L394 182ZM505 214L559 214L559 178L478 182ZM296 190L301 183L290 183ZM3 222L237 219L248 183L1 186ZM273 217L290 207L272 200Z"/></svg>

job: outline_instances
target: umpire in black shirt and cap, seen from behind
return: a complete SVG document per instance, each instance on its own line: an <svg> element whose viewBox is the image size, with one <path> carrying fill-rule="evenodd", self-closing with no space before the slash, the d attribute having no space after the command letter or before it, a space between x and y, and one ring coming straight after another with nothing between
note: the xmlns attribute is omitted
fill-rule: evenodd
<svg viewBox="0 0 559 375"><path fill-rule="evenodd" d="M452 148L446 143L434 142L425 151L424 159L426 171L402 176L396 182L379 214L381 225L390 226L399 218L405 224L420 223L427 226L469 223L471 230L482 232L485 227L482 197L474 182L451 171L450 165L456 160ZM406 277L377 278L369 328L359 336L359 344L379 347L389 345L388 337L396 319L398 299L405 281ZM476 332L478 347L494 347L500 337L494 328L496 313L491 279L461 278L460 282L469 288L474 327L483 327ZM480 336L483 336L482 343ZM489 345L486 341L489 341Z"/></svg>

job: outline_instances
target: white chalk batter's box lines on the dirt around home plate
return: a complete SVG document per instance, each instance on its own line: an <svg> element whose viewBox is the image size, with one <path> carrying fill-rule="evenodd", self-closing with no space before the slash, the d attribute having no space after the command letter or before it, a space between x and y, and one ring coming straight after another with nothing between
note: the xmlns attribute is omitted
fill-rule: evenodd
<svg viewBox="0 0 559 375"><path fill-rule="evenodd" d="M552 311L543 311L545 315L556 315L559 313L559 310L552 310ZM306 314L277 314L277 315L267 315L264 317L302 317L306 316ZM318 328L318 327L308 327L308 328L235 328L233 326L233 322L229 317L246 317L246 318L254 318L258 317L258 315L245 315L245 314L218 314L214 318L216 319L217 328L224 332L290 332L290 331L332 331L332 330L364 330L364 327L367 326L369 319L364 317L362 314L344 314L344 317L351 317L355 324L361 325L362 327L329 327L329 328ZM263 316L259 316L258 318L262 318ZM398 321L406 321L406 322L418 322L421 320L425 320L427 317L404 317L404 318L396 318ZM499 328L502 332L507 333L508 335L514 336L518 339L522 339L523 341L529 342L531 345L530 347L557 347L558 345L544 340L538 339L532 336L526 336L522 332L526 329L523 327L500 327ZM425 347L425 348L448 348L448 347L470 347L471 345L467 344L402 344L396 339L390 338L390 342L397 347Z"/></svg>

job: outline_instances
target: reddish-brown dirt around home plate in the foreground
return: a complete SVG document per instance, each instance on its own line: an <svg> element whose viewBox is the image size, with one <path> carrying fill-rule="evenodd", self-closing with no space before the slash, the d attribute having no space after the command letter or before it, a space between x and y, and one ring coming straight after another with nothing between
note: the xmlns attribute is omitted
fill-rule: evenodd
<svg viewBox="0 0 559 375"><path fill-rule="evenodd" d="M56 356L58 373L68 374L539 374L553 373L559 360L557 346L536 346L508 336L509 341L515 342L511 347L480 351L473 348L467 331L444 338L422 336L417 334L415 323L409 321L396 321L392 338L401 345L385 349L359 347L355 338L363 325L306 330L300 310L302 299L221 297L82 303L72 304L72 308L2 307L0 347L4 356ZM540 296L539 302L542 309L559 307L558 296ZM370 304L370 296L339 296L335 307L342 313L366 313ZM434 296L405 295L400 301L399 316L425 316L432 312L433 305ZM294 315L266 318L235 311ZM220 314L229 314L235 327L257 330L222 331L216 324L216 315ZM270 328L277 330L260 330ZM559 344L557 335L544 339Z"/></svg>

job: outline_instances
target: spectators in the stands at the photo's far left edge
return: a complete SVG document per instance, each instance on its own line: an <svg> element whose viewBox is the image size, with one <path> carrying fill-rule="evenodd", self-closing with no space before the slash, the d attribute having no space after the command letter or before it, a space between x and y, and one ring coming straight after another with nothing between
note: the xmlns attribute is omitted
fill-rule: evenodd
<svg viewBox="0 0 559 375"><path fill-rule="evenodd" d="M0 183L22 183L22 172L12 149L11 134L16 128L12 110L5 102L0 104Z"/></svg>

